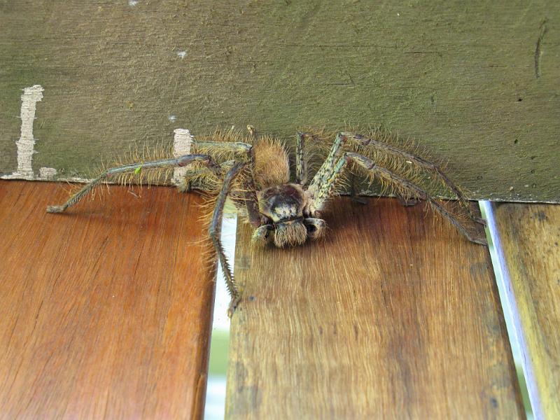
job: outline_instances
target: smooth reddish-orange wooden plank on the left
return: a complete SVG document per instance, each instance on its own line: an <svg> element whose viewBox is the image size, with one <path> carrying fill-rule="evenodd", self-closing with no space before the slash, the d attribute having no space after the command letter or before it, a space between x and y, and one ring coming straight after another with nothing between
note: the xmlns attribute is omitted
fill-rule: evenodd
<svg viewBox="0 0 560 420"><path fill-rule="evenodd" d="M45 214L53 183L0 181L0 419L200 418L214 266L200 197L111 188Z"/></svg>

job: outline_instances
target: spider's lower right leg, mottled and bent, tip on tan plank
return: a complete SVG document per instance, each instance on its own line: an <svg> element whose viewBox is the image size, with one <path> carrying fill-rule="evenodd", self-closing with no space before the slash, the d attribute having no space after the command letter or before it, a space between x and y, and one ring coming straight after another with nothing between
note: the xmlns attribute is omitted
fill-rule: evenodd
<svg viewBox="0 0 560 420"><path fill-rule="evenodd" d="M451 225L454 225L454 227L459 232L461 232L469 241L475 242L475 244L487 245L486 239L472 235L472 232L465 228L465 226L456 218L456 216L454 216L454 214L451 214L450 211L445 209L445 207L438 203L428 192L423 190L421 187L417 186L411 181L408 181L407 179L398 176L394 172L391 172L384 167L380 167L370 158L366 158L365 156L358 153L346 152L344 153L344 155L342 155L342 158L338 160L335 168L332 171L332 174L328 178L328 182L321 187L321 189L318 191L317 197L315 198L315 208L317 210L320 211L321 209L323 209L326 201L335 190L336 180L344 170L344 167L346 167L349 162L354 162L356 163L356 165L363 167L368 172L381 177L381 179L384 179L389 183L392 183L393 185L399 186L403 190L412 193L414 197L418 197L421 200L426 200L431 204L435 211L446 218L451 223Z"/></svg>

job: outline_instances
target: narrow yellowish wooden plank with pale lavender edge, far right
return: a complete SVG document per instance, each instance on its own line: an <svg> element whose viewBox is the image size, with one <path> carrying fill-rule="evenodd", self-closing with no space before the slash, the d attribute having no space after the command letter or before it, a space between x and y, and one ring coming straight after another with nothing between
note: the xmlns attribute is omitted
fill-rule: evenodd
<svg viewBox="0 0 560 420"><path fill-rule="evenodd" d="M487 213L535 418L559 419L560 207L505 203Z"/></svg>

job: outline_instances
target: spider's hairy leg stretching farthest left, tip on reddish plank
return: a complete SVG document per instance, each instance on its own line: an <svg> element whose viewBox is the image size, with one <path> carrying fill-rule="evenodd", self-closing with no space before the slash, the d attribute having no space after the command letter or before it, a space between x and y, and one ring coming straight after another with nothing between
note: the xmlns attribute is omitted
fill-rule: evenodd
<svg viewBox="0 0 560 420"><path fill-rule="evenodd" d="M72 195L64 204L60 206L48 206L47 212L48 213L62 213L69 207L77 204L80 200L83 199L90 191L102 183L111 176L124 174L127 172L135 172L141 169L154 169L154 168L162 168L162 167L186 167L193 162L202 162L204 165L207 165L210 169L214 170L216 173L220 173L221 169L219 165L214 162L214 160L209 155L183 155L179 156L179 158L174 159L162 159L162 160L153 160L151 162L142 162L142 163L133 163L130 165L124 165L120 167L114 167L107 169L101 175L97 176L96 179L91 181L90 183L85 184L85 186L79 190L76 194Z"/></svg>

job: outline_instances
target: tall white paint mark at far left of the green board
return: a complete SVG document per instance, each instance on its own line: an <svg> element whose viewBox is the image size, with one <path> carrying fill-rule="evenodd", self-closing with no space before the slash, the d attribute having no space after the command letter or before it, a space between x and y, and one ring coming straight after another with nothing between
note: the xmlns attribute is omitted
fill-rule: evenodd
<svg viewBox="0 0 560 420"><path fill-rule="evenodd" d="M37 102L43 99L43 87L34 85L25 87L22 94L22 109L20 118L22 128L20 139L15 142L18 146L18 170L8 176L15 179L33 179L31 161L35 153L35 140L33 138L33 123Z"/></svg>

